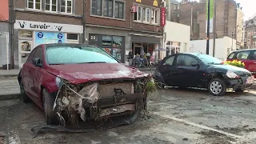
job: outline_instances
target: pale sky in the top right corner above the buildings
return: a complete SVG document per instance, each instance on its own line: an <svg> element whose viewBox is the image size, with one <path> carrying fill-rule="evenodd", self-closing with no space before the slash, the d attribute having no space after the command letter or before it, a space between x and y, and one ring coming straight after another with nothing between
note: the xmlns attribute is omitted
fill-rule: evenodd
<svg viewBox="0 0 256 144"><path fill-rule="evenodd" d="M182 1L182 0L178 0ZM199 1L199 0L194 0ZM242 11L245 14L244 20L252 17L256 14L256 0L235 0L238 3L241 3Z"/></svg>

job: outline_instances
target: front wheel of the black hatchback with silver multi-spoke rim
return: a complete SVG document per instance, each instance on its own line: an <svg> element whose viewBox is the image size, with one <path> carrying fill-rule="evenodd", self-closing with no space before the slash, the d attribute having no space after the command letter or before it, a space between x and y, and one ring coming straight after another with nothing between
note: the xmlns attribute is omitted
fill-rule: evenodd
<svg viewBox="0 0 256 144"><path fill-rule="evenodd" d="M226 83L221 78L214 78L210 80L208 90L214 96L222 96L226 94Z"/></svg>

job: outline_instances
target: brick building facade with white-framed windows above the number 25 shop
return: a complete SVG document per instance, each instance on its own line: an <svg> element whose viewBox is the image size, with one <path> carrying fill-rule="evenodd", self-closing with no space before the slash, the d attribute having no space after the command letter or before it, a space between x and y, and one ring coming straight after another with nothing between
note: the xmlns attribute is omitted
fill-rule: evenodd
<svg viewBox="0 0 256 144"><path fill-rule="evenodd" d="M127 62L130 49L142 54L161 46L160 0L87 0L86 43Z"/></svg>

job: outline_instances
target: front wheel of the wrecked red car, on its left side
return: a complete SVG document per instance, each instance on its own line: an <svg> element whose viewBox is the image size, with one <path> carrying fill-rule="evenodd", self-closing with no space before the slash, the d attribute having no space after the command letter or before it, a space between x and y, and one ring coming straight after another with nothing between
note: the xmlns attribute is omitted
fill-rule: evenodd
<svg viewBox="0 0 256 144"><path fill-rule="evenodd" d="M46 89L42 90L42 104L46 114L47 125L58 125L57 114L54 108L54 97L52 97Z"/></svg>

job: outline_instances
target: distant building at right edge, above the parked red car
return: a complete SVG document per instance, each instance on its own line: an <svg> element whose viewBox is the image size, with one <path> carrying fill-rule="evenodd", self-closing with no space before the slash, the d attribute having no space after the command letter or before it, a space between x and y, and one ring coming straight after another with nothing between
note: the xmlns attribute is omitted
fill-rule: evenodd
<svg viewBox="0 0 256 144"><path fill-rule="evenodd" d="M256 48L256 14L245 22L245 48Z"/></svg>

